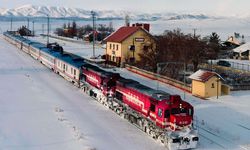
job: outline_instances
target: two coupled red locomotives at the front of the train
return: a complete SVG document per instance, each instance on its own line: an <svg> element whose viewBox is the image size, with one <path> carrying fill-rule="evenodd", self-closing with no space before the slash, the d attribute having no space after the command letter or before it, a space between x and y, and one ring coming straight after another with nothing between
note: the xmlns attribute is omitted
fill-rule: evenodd
<svg viewBox="0 0 250 150"><path fill-rule="evenodd" d="M117 73L86 64L82 67L85 91L160 139L169 149L195 148L198 133L192 126L193 107L179 95L154 90Z"/></svg>

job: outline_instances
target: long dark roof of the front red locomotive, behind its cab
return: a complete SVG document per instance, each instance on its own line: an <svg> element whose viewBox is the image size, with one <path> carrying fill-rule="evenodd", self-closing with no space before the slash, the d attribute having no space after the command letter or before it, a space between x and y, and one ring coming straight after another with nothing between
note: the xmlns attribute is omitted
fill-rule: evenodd
<svg viewBox="0 0 250 150"><path fill-rule="evenodd" d="M132 79L126 79L126 78L120 78L117 81L118 83L122 84L123 86L129 87L131 89L134 89L136 91L139 91L140 93L143 93L147 96L152 97L155 100L162 101L164 99L169 99L170 94L166 93L164 91L155 90L148 86L142 85L139 82L132 80Z"/></svg>

